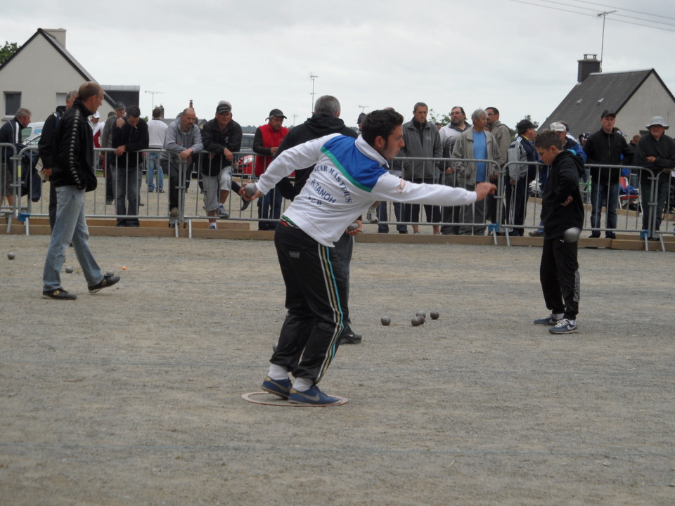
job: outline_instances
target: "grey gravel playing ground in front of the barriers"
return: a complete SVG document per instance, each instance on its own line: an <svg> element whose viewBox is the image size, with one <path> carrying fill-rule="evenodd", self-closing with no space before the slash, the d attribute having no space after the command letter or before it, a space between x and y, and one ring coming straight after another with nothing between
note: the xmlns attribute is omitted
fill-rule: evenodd
<svg viewBox="0 0 675 506"><path fill-rule="evenodd" d="M47 242L0 235L3 505L675 502L671 253L581 249L553 337L539 248L357 244L364 342L321 382L349 403L285 408L241 398L285 314L271 242L95 237L122 281L86 294L69 252L74 302L40 298Z"/></svg>

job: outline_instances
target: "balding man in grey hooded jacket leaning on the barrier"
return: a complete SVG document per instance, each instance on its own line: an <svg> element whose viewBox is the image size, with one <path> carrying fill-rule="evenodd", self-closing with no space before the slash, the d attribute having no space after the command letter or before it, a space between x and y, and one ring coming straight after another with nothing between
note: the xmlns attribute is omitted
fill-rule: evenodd
<svg viewBox="0 0 675 506"><path fill-rule="evenodd" d="M202 134L196 124L193 108L186 108L167 129L162 152L162 168L169 173L169 218L179 217L179 183L181 172L187 181L192 167L192 155L203 149ZM168 153L167 153L168 152Z"/></svg>

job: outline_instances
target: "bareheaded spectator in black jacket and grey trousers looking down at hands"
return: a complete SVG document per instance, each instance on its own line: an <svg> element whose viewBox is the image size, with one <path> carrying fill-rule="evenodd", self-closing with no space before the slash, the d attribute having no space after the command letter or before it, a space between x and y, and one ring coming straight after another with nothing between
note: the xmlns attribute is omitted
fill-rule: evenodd
<svg viewBox="0 0 675 506"><path fill-rule="evenodd" d="M113 127L113 148L115 148L115 213L117 226L139 226L139 193L141 190L141 153L148 149L150 135L148 124L141 119L138 105L127 109L127 116L117 119ZM124 218L122 216L128 216Z"/></svg>

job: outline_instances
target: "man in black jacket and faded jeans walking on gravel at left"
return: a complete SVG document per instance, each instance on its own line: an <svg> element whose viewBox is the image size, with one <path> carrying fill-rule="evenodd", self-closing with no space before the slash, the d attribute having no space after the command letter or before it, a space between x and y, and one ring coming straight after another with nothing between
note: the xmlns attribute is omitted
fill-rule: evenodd
<svg viewBox="0 0 675 506"><path fill-rule="evenodd" d="M42 274L44 299L77 298L63 290L60 280L65 252L71 242L90 293L113 286L120 280L120 276L101 272L89 249L89 231L84 219L84 193L96 190L97 185L94 140L87 117L101 107L103 89L95 82L86 82L79 87L77 95L79 98L75 99L72 108L58 122L54 136L51 183L56 186L57 207Z"/></svg>

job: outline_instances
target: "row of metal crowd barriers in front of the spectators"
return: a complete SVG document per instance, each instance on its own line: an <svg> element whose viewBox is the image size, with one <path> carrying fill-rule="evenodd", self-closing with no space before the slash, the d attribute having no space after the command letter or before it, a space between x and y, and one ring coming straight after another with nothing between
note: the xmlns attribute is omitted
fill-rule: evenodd
<svg viewBox="0 0 675 506"><path fill-rule="evenodd" d="M202 168L210 160L209 153L201 152L188 160L179 160L165 150L143 150L127 153L127 163L122 167L119 158L113 154L114 151L113 148L95 150L96 173L101 177L98 179L98 188L86 194L87 218L115 219L120 226L139 219L167 219L169 222L169 197L173 186L177 188L174 200L179 208L178 218L172 220L176 225L176 236L180 224L191 228L194 220L214 219L204 209L201 189ZM11 219L18 219L25 222L28 234L31 216L49 215L49 198L46 197L49 191L46 188L50 185L41 185L38 176L41 163L37 157L37 145L27 146L17 153L14 145L0 144L0 155L4 176L0 179L0 190L3 194L6 193L1 185L7 186L9 181L8 186L13 195L13 203L3 202L1 207L8 221L8 231ZM157 162L156 155L160 157L160 164L148 164L150 160ZM255 179L256 160L253 153L235 153L235 162L231 166L235 185L226 200L226 206L229 220L256 221L262 227L264 224L276 223L289 202L278 192L271 192L265 205L260 199L245 211L240 210L243 201L236 194L236 185ZM496 195L468 206L423 206L425 222L420 222L420 205L383 202L377 212L378 232L386 233L389 226L395 226L399 233L413 225L435 226L439 233L446 235L484 235L487 231L489 235L493 235L495 244L497 236L506 235L507 244L510 244L510 237L513 235L541 230L541 204L537 197L547 176L547 168L543 164L509 162L499 167L492 160L397 157L390 170L394 174L401 171L404 179L411 181L473 189L475 186L467 168L475 162L486 163L486 171L493 174L492 182L497 186ZM527 176L527 181L519 180L510 185L508 174L514 164L533 166L536 176L534 179ZM161 179L163 184L153 174L153 191L148 189L150 175L143 174L148 167L152 171L162 169L164 172ZM665 177L635 166L587 164L586 169L587 172L589 169L598 169L618 174L623 172L624 175L619 176L619 183L610 186L594 185L592 179L580 182L586 207L584 230L610 236L617 232L635 233L644 239L645 247L648 247L648 238L658 238L664 249L663 235L673 233L673 214L670 211L675 205L671 191L674 179L669 174ZM6 175L6 171L11 172L11 177ZM160 193L162 186L164 191ZM664 191L664 188L668 191ZM113 203L109 204L111 195ZM604 206L601 205L603 203ZM258 205L263 209L254 212L253 207ZM390 216L395 219L388 219ZM217 221L220 222L219 219Z"/></svg>

